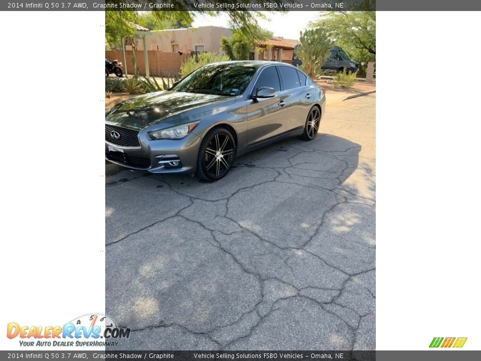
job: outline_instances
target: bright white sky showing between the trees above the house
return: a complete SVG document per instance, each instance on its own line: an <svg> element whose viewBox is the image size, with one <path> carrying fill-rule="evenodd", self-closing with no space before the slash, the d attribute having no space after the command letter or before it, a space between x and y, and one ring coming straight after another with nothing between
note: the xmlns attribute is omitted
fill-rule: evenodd
<svg viewBox="0 0 481 361"><path fill-rule="evenodd" d="M267 13L269 20L260 20L261 28L270 30L274 36L287 39L299 39L299 32L307 28L307 24L317 18L319 12L292 11L285 14ZM219 17L197 16L192 24L193 27L199 26L219 26L228 28L227 13L220 13Z"/></svg>

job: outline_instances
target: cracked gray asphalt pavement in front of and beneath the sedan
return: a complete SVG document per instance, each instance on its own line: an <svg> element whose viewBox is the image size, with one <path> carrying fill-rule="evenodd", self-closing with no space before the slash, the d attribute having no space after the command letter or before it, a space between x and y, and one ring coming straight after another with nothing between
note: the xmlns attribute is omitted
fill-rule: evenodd
<svg viewBox="0 0 481 361"><path fill-rule="evenodd" d="M216 183L106 164L112 349L375 349L375 99Z"/></svg>

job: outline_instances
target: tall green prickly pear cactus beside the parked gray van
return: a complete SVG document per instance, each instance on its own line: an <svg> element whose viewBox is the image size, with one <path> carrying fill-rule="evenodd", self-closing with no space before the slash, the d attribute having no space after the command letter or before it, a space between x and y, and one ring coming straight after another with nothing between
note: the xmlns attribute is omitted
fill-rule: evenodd
<svg viewBox="0 0 481 361"><path fill-rule="evenodd" d="M310 29L304 34L301 32L300 41L301 46L296 50L296 55L302 61L300 68L312 78L321 75L321 67L332 49L330 34L323 28Z"/></svg>

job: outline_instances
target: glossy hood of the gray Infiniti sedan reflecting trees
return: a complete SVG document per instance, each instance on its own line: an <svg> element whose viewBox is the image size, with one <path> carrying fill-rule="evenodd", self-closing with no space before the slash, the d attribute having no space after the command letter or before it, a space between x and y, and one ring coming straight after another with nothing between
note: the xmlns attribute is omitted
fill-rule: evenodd
<svg viewBox="0 0 481 361"><path fill-rule="evenodd" d="M194 121L194 115L209 108L234 102L235 98L222 95L160 91L130 98L115 105L106 113L109 124L142 130L149 125L166 122L168 126ZM178 121L172 121L178 119Z"/></svg>

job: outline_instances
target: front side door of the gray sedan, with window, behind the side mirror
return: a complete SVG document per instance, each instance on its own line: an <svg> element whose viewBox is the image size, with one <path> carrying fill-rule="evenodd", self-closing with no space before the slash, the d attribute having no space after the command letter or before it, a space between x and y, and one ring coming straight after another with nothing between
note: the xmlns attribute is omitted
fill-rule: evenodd
<svg viewBox="0 0 481 361"><path fill-rule="evenodd" d="M266 86L274 88L276 91L273 98L252 99L257 89ZM281 80L276 66L262 69L247 105L249 145L262 142L286 131L285 97L281 92Z"/></svg>

